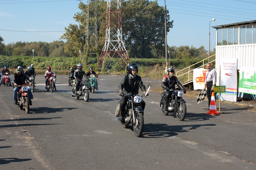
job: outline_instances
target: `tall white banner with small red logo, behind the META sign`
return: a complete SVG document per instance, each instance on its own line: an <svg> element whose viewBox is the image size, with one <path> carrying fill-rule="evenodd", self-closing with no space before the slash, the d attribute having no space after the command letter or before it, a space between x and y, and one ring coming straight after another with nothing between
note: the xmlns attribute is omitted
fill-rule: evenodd
<svg viewBox="0 0 256 170"><path fill-rule="evenodd" d="M220 58L220 85L226 86L226 92L221 93L224 101L237 101L237 59Z"/></svg>

